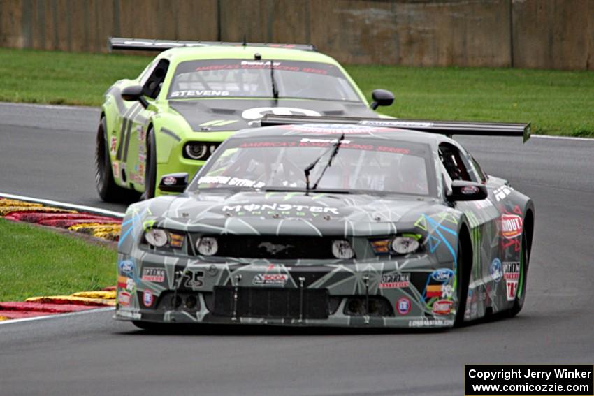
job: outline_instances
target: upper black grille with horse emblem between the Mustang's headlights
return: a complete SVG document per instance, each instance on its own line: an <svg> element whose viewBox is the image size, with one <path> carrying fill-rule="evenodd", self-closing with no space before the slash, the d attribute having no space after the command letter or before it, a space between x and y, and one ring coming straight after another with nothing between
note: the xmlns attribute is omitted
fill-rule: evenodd
<svg viewBox="0 0 594 396"><path fill-rule="evenodd" d="M324 237L217 235L217 256L272 259L333 259L332 240ZM196 237L194 238L196 240Z"/></svg>

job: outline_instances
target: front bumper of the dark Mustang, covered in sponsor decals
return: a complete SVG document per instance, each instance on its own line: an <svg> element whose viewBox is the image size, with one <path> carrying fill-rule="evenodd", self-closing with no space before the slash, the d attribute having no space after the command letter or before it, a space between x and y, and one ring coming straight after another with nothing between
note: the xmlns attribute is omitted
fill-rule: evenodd
<svg viewBox="0 0 594 396"><path fill-rule="evenodd" d="M436 270L451 274L435 277ZM134 249L119 255L115 318L161 323L447 328L454 263L200 261ZM439 280L437 280L437 279ZM447 278L447 279L445 279Z"/></svg>

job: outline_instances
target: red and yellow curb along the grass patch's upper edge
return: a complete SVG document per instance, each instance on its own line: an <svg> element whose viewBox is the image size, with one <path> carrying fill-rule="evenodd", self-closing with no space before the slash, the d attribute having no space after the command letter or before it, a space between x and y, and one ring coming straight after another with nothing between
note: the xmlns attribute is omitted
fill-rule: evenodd
<svg viewBox="0 0 594 396"><path fill-rule="evenodd" d="M64 228L104 240L119 240L122 219L88 212L61 209L41 203L0 198L0 217L40 226Z"/></svg>

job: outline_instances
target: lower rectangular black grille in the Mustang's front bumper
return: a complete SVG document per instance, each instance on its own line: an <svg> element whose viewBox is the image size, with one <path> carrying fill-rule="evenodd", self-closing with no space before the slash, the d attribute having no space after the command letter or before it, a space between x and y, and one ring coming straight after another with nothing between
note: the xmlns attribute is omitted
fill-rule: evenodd
<svg viewBox="0 0 594 396"><path fill-rule="evenodd" d="M327 289L238 287L236 302L233 301L234 292L235 288L230 286L215 287L215 306L212 314L285 319L298 319L300 314L303 314L304 319L328 318Z"/></svg>

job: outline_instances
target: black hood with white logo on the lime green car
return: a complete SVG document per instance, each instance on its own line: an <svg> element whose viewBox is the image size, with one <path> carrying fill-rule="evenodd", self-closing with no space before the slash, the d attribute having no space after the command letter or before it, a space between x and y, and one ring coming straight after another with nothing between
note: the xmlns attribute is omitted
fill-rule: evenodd
<svg viewBox="0 0 594 396"><path fill-rule="evenodd" d="M266 114L378 117L364 103L295 99L194 99L169 101L194 131L238 131Z"/></svg>

